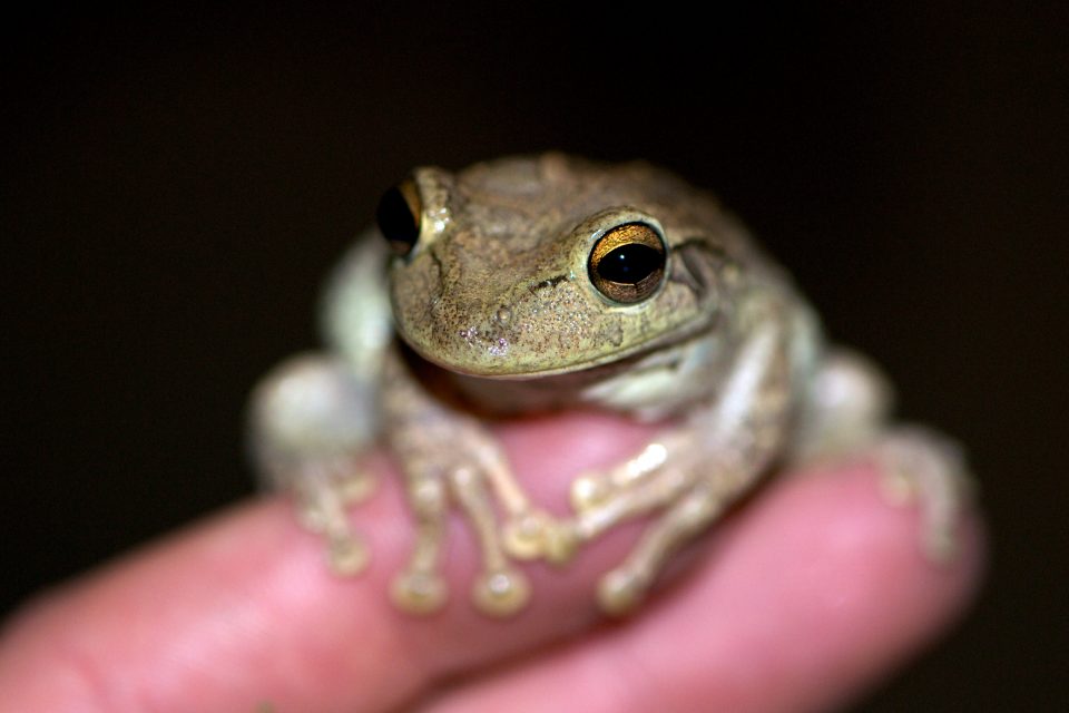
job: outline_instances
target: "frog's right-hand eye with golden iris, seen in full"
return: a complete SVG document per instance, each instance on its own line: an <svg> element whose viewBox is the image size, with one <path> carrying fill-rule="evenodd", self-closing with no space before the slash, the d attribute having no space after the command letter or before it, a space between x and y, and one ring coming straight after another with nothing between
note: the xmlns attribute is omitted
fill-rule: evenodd
<svg viewBox="0 0 1069 713"><path fill-rule="evenodd" d="M654 294L665 276L665 243L645 223L625 223L607 231L587 268L590 282L614 302L634 304Z"/></svg>

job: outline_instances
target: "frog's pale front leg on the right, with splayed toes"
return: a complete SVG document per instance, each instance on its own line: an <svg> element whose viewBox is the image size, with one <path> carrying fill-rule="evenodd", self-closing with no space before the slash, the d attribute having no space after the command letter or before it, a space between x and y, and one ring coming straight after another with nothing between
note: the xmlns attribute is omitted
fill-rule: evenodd
<svg viewBox="0 0 1069 713"><path fill-rule="evenodd" d="M713 403L696 410L637 458L578 481L577 515L556 533L551 559L563 560L620 521L664 511L616 569L601 579L602 608L636 606L668 557L748 490L785 440L795 367L781 321L754 329Z"/></svg>

